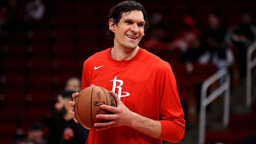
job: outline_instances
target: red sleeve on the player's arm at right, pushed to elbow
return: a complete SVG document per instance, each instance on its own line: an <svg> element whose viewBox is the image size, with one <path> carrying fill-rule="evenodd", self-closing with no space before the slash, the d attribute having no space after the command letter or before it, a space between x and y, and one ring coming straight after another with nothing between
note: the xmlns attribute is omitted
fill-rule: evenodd
<svg viewBox="0 0 256 144"><path fill-rule="evenodd" d="M185 133L184 112L181 107L176 81L167 63L160 77L160 123L159 139L179 142Z"/></svg>

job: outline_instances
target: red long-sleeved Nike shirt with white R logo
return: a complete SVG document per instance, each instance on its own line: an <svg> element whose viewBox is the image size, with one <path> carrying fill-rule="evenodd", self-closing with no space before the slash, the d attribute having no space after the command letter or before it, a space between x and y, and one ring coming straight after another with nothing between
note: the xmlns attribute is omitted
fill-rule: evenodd
<svg viewBox="0 0 256 144"><path fill-rule="evenodd" d="M113 90L132 112L159 120L161 135L153 138L129 126L91 129L86 144L178 142L185 133L185 120L169 63L141 48L127 61L113 59L110 51L96 53L84 62L82 89L94 84Z"/></svg>

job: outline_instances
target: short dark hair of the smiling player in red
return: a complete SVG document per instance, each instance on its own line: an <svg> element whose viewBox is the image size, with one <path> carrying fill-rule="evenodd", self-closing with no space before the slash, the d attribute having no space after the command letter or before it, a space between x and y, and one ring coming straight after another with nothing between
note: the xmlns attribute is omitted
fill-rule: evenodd
<svg viewBox="0 0 256 144"><path fill-rule="evenodd" d="M148 28L148 20L147 20L147 12L144 8L144 6L142 6L140 3L135 2L135 1L124 1L121 3L118 3L116 6L114 6L110 12L109 12L109 20L111 18L113 18L113 22L114 24L119 23L120 19L122 18L122 14L123 13L130 13L131 11L134 10L139 10L143 13L143 17L144 17L144 21L145 26L144 26L144 32L147 30ZM114 32L112 32L111 30L107 30L107 35L109 37L109 39L113 40L115 37Z"/></svg>

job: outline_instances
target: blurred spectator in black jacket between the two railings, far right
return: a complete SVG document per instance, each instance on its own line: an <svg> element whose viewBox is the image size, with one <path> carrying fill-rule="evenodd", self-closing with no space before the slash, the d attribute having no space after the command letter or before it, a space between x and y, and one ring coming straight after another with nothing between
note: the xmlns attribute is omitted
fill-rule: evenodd
<svg viewBox="0 0 256 144"><path fill-rule="evenodd" d="M256 40L256 29L251 24L251 16L244 12L241 15L240 23L228 30L225 35L225 42L230 47L238 50L238 62L240 77L246 76L246 56L250 44Z"/></svg>

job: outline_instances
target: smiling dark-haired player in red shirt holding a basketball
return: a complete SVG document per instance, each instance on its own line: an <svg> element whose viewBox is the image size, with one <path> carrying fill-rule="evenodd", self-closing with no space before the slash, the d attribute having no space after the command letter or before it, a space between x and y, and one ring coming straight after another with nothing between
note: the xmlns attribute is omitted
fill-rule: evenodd
<svg viewBox="0 0 256 144"><path fill-rule="evenodd" d="M112 90L117 107L101 105L113 114L91 129L87 144L178 142L185 133L184 113L172 69L140 48L148 26L144 7L135 1L117 4L109 15L114 47L89 57L83 65L82 89L94 84ZM117 94L116 94L117 93ZM72 95L75 99L79 94ZM70 102L75 106L75 102ZM70 114L75 116L74 111ZM74 121L78 120L74 117Z"/></svg>

